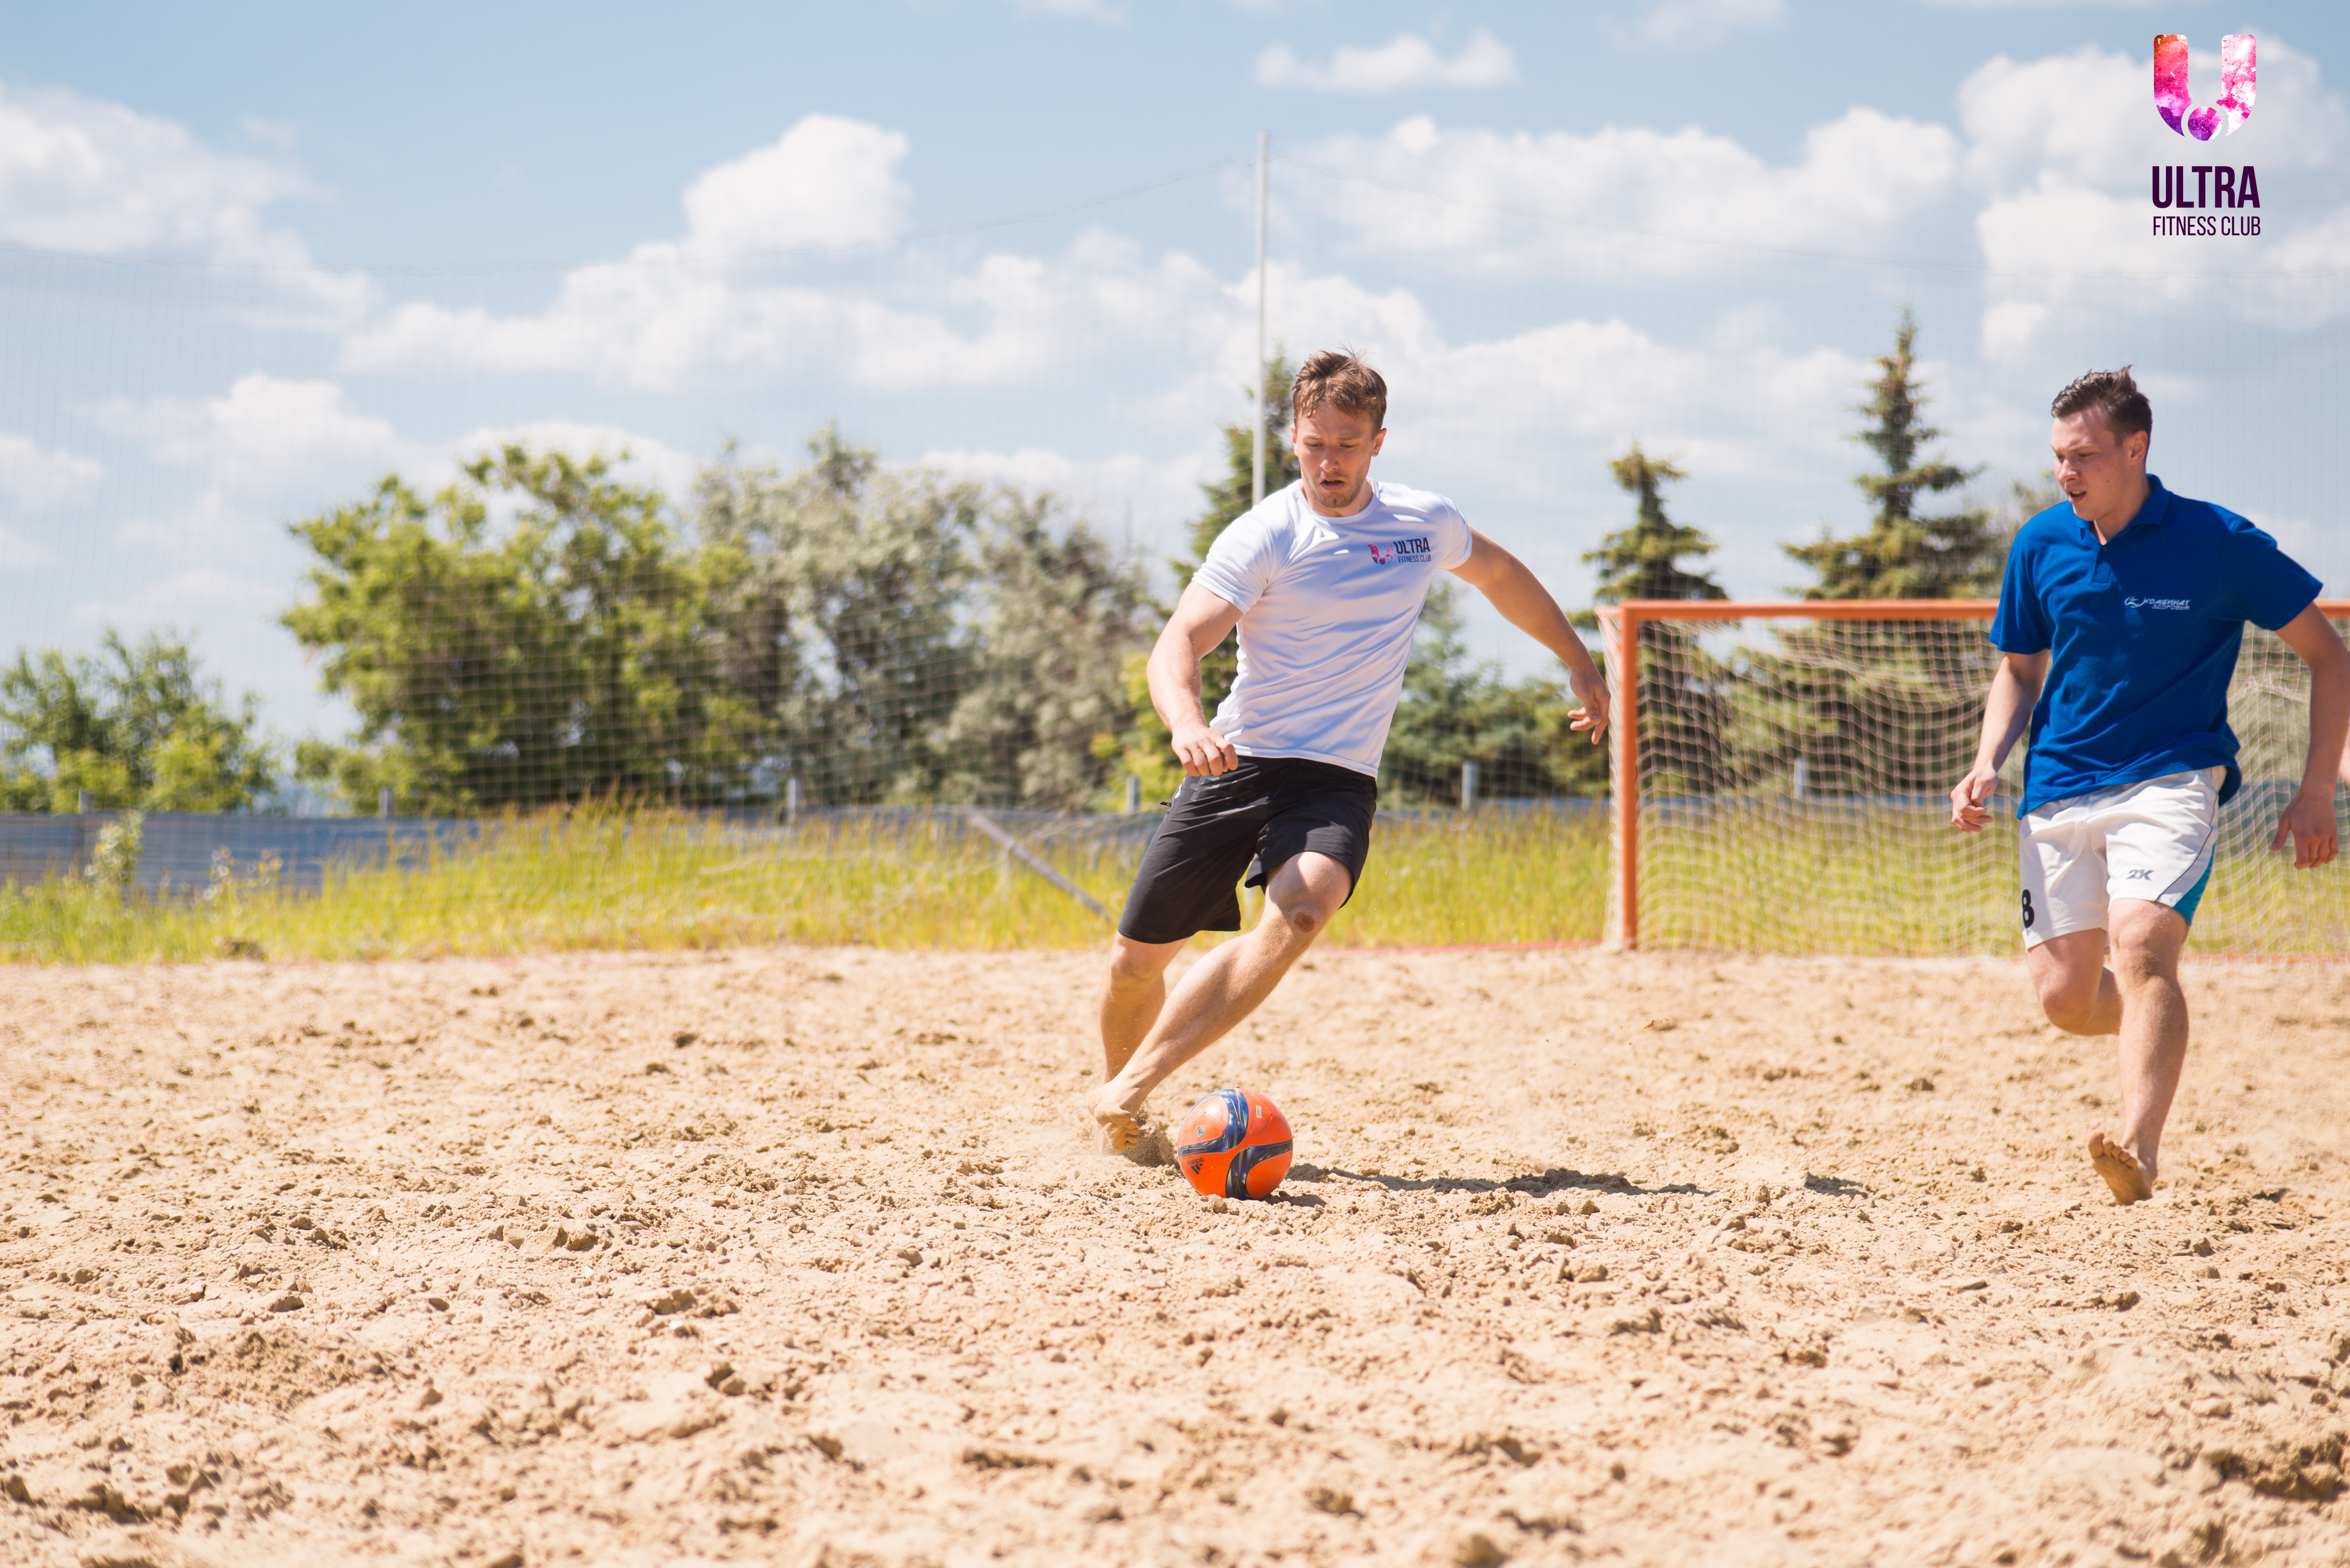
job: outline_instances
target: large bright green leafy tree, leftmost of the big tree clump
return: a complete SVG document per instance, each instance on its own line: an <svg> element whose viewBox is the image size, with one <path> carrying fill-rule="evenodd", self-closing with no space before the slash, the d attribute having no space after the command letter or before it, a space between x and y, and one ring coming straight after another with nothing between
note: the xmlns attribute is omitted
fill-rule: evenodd
<svg viewBox="0 0 2350 1568"><path fill-rule="evenodd" d="M315 566L284 624L360 714L306 777L425 812L740 793L750 716L707 624L728 561L602 455L508 446L430 505L390 477L291 533Z"/></svg>

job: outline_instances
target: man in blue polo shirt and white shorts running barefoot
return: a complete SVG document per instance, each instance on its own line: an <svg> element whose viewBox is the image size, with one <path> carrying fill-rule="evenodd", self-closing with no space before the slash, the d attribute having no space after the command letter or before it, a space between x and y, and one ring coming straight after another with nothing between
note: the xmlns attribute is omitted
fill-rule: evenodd
<svg viewBox="0 0 2350 1568"><path fill-rule="evenodd" d="M2129 371L2092 371L2052 406L2070 505L2023 523L1990 643L1983 742L1950 791L1979 833L2000 763L2023 756L2023 946L2040 1007L2075 1035L2120 1035L2122 1129L2089 1134L2124 1204L2155 1195L2162 1122L2188 1056L2178 953L2235 796L2228 678L2244 622L2310 667L2310 758L2277 822L2308 871L2334 859L2334 770L2350 728L2350 653L2317 580L2235 512L2146 472L2155 415ZM2113 951L2113 967L2106 953Z"/></svg>

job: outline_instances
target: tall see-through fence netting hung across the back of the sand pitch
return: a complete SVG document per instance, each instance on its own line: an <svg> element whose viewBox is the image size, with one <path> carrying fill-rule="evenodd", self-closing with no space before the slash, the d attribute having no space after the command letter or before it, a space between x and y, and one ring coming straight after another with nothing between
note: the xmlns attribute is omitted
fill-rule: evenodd
<svg viewBox="0 0 2350 1568"><path fill-rule="evenodd" d="M2052 392L2117 364L2174 491L2350 580L2350 284L2315 251L2066 272L1643 232L1448 181L1476 136L1276 157L1271 350L1372 359L1379 474L1572 610L1661 538L1676 582L1824 592L1786 547L1868 533L1894 458L1953 477L1920 528L1972 519L1995 573L2049 500ZM1180 782L1142 662L1248 505L1253 169L764 246L712 207L761 167L550 265L0 249L7 953L1107 930L971 812L1116 913ZM1908 326L1915 451L1868 446ZM1431 601L1335 939L1603 937L1607 753L1563 674L1473 592ZM1986 676L1979 624L1652 624L1643 944L2012 951L2012 843L1936 817ZM2256 843L2298 690L2251 634L2202 951L2350 953L2343 873Z"/></svg>

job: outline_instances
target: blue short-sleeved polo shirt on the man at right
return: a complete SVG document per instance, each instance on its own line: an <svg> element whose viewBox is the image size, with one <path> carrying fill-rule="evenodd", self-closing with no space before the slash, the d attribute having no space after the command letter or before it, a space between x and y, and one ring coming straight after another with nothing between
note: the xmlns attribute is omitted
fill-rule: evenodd
<svg viewBox="0 0 2350 1568"><path fill-rule="evenodd" d="M2317 599L2317 577L2249 521L2148 486L2106 545L2059 502L2007 554L1990 643L2049 650L2019 817L2190 768L2225 768L2218 798L2235 796L2228 678L2244 622L2275 631Z"/></svg>

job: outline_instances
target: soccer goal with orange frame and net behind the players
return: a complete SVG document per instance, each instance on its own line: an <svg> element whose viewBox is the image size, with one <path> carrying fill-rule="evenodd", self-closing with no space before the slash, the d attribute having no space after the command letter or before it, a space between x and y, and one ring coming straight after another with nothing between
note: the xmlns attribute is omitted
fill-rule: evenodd
<svg viewBox="0 0 2350 1568"><path fill-rule="evenodd" d="M1967 955L2016 948L2012 817L1950 829L1998 667L1974 599L1600 608L1614 692L1607 932L1624 948ZM2336 627L2350 603L2324 603ZM2350 955L2350 871L2268 852L2301 784L2308 671L2244 631L2228 695L2244 789L2221 815L2195 953ZM2341 784L2336 784L2341 791ZM2350 817L2350 803L2336 793Z"/></svg>

